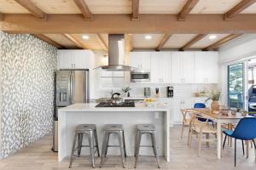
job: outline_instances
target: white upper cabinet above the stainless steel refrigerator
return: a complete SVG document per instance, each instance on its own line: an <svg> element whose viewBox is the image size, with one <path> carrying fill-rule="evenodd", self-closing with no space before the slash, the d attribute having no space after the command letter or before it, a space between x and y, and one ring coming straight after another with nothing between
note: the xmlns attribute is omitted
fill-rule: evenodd
<svg viewBox="0 0 256 170"><path fill-rule="evenodd" d="M58 50L58 69L91 69L92 56L90 50Z"/></svg>

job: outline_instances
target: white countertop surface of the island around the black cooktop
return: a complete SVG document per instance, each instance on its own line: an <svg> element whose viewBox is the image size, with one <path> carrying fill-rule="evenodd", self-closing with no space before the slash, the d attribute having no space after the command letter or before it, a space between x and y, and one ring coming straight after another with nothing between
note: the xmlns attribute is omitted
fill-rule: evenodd
<svg viewBox="0 0 256 170"><path fill-rule="evenodd" d="M168 111L166 106L158 102L146 105L144 103L137 103L135 107L95 107L96 103L74 104L59 109L59 112L84 112L84 111Z"/></svg>

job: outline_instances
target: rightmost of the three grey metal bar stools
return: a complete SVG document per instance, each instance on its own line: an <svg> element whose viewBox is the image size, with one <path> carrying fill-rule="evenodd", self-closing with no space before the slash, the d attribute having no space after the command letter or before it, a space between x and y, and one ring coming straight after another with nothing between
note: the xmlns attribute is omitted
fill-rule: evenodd
<svg viewBox="0 0 256 170"><path fill-rule="evenodd" d="M141 145L141 139L143 134L149 134L151 137L152 145ZM137 137L136 137L136 143L135 143L135 165L134 168L137 167L137 160L139 156L139 150L140 147L152 147L154 151L154 156L156 158L157 166L160 168L159 164L159 156L157 152L157 146L156 146L156 130L153 124L139 124L137 125Z"/></svg>

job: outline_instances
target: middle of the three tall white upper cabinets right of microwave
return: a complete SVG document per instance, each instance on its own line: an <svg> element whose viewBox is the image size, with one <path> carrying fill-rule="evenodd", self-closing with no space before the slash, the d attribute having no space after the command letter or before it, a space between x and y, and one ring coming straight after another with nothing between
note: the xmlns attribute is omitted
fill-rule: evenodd
<svg viewBox="0 0 256 170"><path fill-rule="evenodd" d="M172 83L195 82L195 52L172 52Z"/></svg>

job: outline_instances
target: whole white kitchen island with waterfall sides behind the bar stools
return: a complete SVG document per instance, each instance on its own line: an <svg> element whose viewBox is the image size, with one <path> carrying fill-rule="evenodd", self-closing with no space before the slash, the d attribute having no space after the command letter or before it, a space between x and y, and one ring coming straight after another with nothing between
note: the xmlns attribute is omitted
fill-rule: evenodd
<svg viewBox="0 0 256 170"><path fill-rule="evenodd" d="M125 144L128 156L134 156L137 124L152 123L156 127L157 146L160 156L170 161L169 121L170 109L160 104L136 104L135 107L96 107L95 103L74 104L58 111L58 161L70 156L73 142L73 129L79 124L93 123L97 127L100 150L102 149L102 127L105 124L123 124L125 128ZM87 143L87 139L84 139ZM115 136L110 137L110 144L118 144ZM149 136L144 135L142 144L151 144ZM89 155L88 149L82 149L82 155ZM109 148L109 155L119 155L119 150ZM141 148L141 155L153 156L151 148Z"/></svg>

